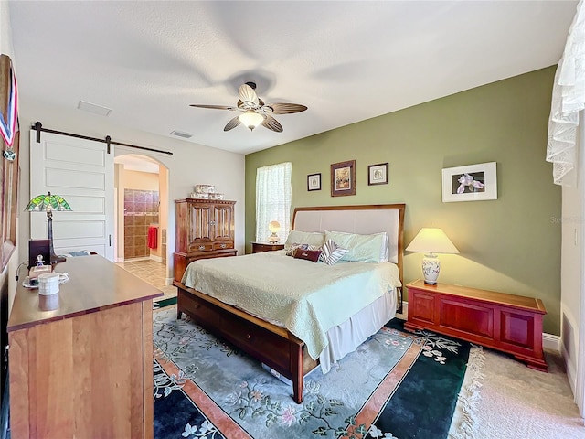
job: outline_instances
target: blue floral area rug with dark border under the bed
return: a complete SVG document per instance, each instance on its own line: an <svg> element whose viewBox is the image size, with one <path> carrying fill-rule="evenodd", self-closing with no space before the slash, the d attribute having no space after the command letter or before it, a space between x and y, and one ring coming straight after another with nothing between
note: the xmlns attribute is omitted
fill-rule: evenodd
<svg viewBox="0 0 585 439"><path fill-rule="evenodd" d="M329 373L314 369L297 404L255 359L176 320L175 307L156 311L154 437L446 438L471 346L403 323L388 322Z"/></svg>

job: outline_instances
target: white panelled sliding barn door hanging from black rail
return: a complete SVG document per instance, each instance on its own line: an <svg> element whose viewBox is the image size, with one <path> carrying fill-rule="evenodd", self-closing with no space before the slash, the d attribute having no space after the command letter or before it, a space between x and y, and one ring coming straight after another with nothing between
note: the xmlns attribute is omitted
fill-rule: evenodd
<svg viewBox="0 0 585 439"><path fill-rule="evenodd" d="M114 260L113 146L101 142L30 130L30 195L50 191L72 211L53 212L55 253L97 252ZM30 238L48 237L47 215L30 213Z"/></svg>

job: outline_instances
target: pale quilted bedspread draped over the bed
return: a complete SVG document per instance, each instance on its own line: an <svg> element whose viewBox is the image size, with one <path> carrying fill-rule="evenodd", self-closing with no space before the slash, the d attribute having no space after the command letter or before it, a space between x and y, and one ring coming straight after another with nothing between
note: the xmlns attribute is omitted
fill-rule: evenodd
<svg viewBox="0 0 585 439"><path fill-rule="evenodd" d="M313 359L327 346L329 328L401 285L398 267L390 262L326 265L284 251L191 262L181 282L282 323L305 342Z"/></svg>

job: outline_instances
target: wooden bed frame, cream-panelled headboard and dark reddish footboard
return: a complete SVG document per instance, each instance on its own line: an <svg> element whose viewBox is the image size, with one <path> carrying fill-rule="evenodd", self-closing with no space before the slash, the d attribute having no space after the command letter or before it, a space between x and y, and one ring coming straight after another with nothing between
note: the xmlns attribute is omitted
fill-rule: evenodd
<svg viewBox="0 0 585 439"><path fill-rule="evenodd" d="M324 231L326 229L355 233L374 233L386 230L384 226L380 227L379 224L388 222L384 219L384 213L388 214L388 209L398 211L398 230L394 230L394 239L397 244L395 263L399 266L400 280L402 280L404 204L296 208L293 214L293 230ZM375 219L377 210L382 212L381 221L378 224L376 220L367 223L364 219L370 217ZM331 215L329 215L329 220L322 218L320 212L327 211L333 211L335 215L338 213L339 217L336 218L347 218L347 223L344 225L342 224L343 220L335 219L332 224L330 222ZM304 217L303 221L297 221L297 214L308 215ZM295 224L298 225L300 222L303 222L304 225L300 226L300 229L296 229ZM332 225L337 227L335 229L332 227L327 228ZM307 228L314 230L307 230ZM389 236L392 239L392 235ZM182 314L185 313L193 318L199 326L206 328L209 332L219 337L224 337L242 351L250 354L251 357L276 370L283 377L292 380L293 399L297 403L303 402L303 376L318 365L318 360L312 359L308 354L305 355L303 340L293 336L283 327L272 325L261 318L251 316L234 306L227 305L214 297L189 288L185 284L176 281L173 284L178 289L177 318L181 318Z"/></svg>

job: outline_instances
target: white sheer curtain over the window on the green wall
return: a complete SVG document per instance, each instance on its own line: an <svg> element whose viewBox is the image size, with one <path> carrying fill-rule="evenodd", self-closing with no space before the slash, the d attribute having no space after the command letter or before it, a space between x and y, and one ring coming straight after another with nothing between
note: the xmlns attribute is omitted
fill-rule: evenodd
<svg viewBox="0 0 585 439"><path fill-rule="evenodd" d="M278 236L284 242L291 230L291 162L263 166L256 170L256 241L268 241L268 224L278 221Z"/></svg>

